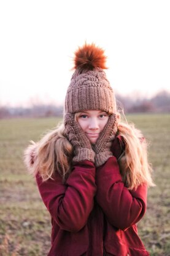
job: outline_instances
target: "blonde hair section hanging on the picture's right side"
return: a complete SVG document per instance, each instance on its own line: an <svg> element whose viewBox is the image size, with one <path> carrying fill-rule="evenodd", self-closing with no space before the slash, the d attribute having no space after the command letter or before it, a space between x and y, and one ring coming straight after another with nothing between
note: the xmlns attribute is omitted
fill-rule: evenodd
<svg viewBox="0 0 170 256"><path fill-rule="evenodd" d="M125 153L118 159L120 173L123 182L132 190L142 183L148 186L155 186L152 181L152 166L147 158L147 141L141 133L134 127L134 124L120 122L118 124L118 134L125 142Z"/></svg>

